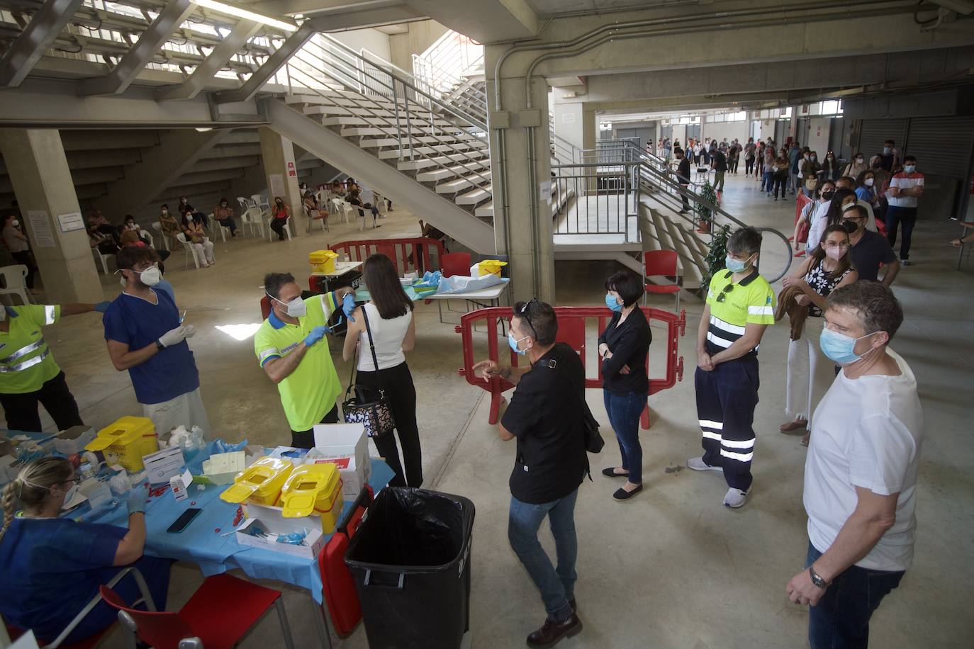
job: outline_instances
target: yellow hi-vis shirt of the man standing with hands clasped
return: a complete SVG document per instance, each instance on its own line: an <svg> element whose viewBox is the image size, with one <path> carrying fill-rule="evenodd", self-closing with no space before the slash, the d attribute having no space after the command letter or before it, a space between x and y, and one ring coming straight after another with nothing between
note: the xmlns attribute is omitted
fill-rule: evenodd
<svg viewBox="0 0 974 649"><path fill-rule="evenodd" d="M744 335L748 324L774 324L774 291L757 270L734 283L730 270L719 270L710 279L707 304L710 324L707 328L707 353L716 354ZM754 358L758 347L741 358Z"/></svg>

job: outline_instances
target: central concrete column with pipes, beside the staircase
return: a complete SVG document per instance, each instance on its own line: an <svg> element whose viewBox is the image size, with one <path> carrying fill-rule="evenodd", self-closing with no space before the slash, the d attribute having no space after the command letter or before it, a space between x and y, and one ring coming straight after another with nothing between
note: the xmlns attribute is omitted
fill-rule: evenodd
<svg viewBox="0 0 974 649"><path fill-rule="evenodd" d="M488 57L490 59L491 57ZM488 69L490 67L488 66ZM547 120L547 87L538 77L527 109L524 78L504 79L504 111L495 114L494 82L488 81L491 119L491 175L494 188L494 228L498 250L506 250L515 301L537 297L554 303L554 254L550 193L551 180ZM503 157L500 139L504 139ZM534 159L531 147L534 145ZM506 187L506 193L499 192ZM503 203L503 204L502 204ZM506 210L504 207L506 204ZM505 215L506 211L506 215Z"/></svg>

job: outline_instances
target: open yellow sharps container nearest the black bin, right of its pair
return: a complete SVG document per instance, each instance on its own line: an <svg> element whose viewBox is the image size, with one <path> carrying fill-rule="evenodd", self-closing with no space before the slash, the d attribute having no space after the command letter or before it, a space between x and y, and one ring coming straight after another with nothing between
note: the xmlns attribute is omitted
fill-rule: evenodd
<svg viewBox="0 0 974 649"><path fill-rule="evenodd" d="M299 519L316 515L321 531L330 534L338 524L342 479L338 467L327 462L295 467L281 488L281 516Z"/></svg>

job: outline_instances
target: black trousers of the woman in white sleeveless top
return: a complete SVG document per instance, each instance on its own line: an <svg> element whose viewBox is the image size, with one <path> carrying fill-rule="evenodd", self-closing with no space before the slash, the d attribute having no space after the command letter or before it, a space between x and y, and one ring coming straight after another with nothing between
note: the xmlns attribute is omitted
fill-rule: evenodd
<svg viewBox="0 0 974 649"><path fill-rule="evenodd" d="M399 462L399 449L393 433L372 438L375 448L395 471L389 484L393 487L422 487L423 450L420 449L420 431L416 425L416 386L409 365L400 363L381 372L359 372L356 383L385 390L389 407L393 409L395 435L399 436L402 445L402 462ZM405 473L402 464L405 464Z"/></svg>

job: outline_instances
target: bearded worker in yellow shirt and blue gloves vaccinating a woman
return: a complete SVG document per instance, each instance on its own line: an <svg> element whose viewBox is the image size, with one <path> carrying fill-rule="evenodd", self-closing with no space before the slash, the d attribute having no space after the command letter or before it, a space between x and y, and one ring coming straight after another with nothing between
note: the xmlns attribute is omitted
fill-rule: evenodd
<svg viewBox="0 0 974 649"><path fill-rule="evenodd" d="M311 449L313 426L338 422L335 400L342 385L324 335L335 310L342 308L347 316L355 310L354 289L346 286L302 299L294 275L271 272L264 277L264 291L271 299L271 314L257 330L253 349L264 372L278 384L291 446Z"/></svg>

